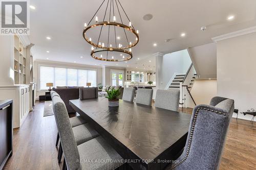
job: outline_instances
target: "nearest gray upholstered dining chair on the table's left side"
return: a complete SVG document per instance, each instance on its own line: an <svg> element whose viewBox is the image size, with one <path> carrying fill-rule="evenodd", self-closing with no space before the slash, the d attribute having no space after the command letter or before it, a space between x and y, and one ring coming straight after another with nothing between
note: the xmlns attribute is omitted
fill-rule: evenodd
<svg viewBox="0 0 256 170"><path fill-rule="evenodd" d="M53 110L65 157L63 166L67 166L68 169L93 170L115 169L123 164L122 157L101 136L77 144L65 103L60 98L54 98Z"/></svg>

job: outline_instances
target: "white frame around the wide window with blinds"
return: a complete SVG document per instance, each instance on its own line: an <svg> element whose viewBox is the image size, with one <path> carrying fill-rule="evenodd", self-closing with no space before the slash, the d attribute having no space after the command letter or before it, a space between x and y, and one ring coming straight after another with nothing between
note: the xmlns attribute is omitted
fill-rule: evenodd
<svg viewBox="0 0 256 170"><path fill-rule="evenodd" d="M96 71L96 86L98 85L98 70L97 69L94 69L94 68L86 68L86 67L77 67L77 66L64 66L64 65L55 65L55 64L41 64L41 63L38 63L38 68L37 68L37 75L38 75L38 91L46 91L46 89L41 89L41 82L40 82L40 76L41 76L41 73L40 73L40 68L41 66L43 67L57 67L57 68L70 68L70 69L82 69L82 70L93 70L93 71ZM84 87L86 87L86 85L84 85Z"/></svg>

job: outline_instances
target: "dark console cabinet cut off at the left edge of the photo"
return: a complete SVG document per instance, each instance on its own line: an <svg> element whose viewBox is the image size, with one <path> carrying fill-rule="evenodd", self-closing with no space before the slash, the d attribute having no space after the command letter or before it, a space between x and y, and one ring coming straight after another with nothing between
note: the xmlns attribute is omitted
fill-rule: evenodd
<svg viewBox="0 0 256 170"><path fill-rule="evenodd" d="M12 100L0 100L0 170L12 156Z"/></svg>

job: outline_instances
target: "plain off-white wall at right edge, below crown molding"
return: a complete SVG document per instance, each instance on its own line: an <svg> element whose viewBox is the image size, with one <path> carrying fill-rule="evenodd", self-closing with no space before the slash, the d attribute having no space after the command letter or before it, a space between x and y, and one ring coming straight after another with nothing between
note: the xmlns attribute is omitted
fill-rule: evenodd
<svg viewBox="0 0 256 170"><path fill-rule="evenodd" d="M234 99L235 108L240 111L256 109L255 75L255 32L217 41L218 95ZM250 120L252 116L238 117Z"/></svg>

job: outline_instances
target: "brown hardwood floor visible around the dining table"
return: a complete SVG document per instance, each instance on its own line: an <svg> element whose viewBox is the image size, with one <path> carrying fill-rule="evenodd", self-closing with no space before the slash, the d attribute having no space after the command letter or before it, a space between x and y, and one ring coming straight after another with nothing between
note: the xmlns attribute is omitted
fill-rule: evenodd
<svg viewBox="0 0 256 170"><path fill-rule="evenodd" d="M180 109L191 113L190 108ZM13 133L13 155L4 169L61 169L57 162L54 116L43 117L44 102L36 102L23 126ZM232 118L220 169L255 169L256 123Z"/></svg>

